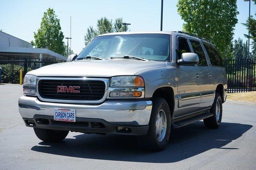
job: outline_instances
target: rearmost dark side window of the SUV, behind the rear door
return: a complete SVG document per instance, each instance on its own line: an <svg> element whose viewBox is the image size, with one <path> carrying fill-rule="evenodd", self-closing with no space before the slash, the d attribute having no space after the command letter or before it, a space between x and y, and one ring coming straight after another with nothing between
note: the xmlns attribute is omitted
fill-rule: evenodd
<svg viewBox="0 0 256 170"><path fill-rule="evenodd" d="M222 58L220 57L220 54L218 53L216 47L214 47L212 44L203 42L204 47L209 55L210 61L212 65L214 66L223 66Z"/></svg>

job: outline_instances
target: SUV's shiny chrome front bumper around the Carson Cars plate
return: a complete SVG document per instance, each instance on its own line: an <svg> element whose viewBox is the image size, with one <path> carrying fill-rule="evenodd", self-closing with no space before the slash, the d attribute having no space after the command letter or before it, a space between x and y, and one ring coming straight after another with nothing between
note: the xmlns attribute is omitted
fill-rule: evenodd
<svg viewBox="0 0 256 170"><path fill-rule="evenodd" d="M54 115L54 108L76 109L76 117L103 119L114 125L148 125L152 101L112 101L102 104L68 104L39 101L36 97L20 97L19 112L22 118L32 119L34 115Z"/></svg>

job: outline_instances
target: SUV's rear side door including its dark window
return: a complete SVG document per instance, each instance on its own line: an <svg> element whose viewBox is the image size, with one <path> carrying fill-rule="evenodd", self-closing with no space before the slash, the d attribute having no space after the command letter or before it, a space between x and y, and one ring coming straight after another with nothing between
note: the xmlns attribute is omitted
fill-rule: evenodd
<svg viewBox="0 0 256 170"><path fill-rule="evenodd" d="M203 49L201 41L196 39L190 39L192 50L199 57L198 63L198 73L200 76L200 92L201 101L199 104L199 109L209 107L212 105L214 100L214 90L213 90L213 74L212 69L210 69L209 61L206 59L206 51Z"/></svg>

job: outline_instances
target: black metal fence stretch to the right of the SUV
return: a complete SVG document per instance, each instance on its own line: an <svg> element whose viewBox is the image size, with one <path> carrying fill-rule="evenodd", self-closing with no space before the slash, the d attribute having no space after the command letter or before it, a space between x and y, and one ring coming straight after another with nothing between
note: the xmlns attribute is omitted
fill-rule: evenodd
<svg viewBox="0 0 256 170"><path fill-rule="evenodd" d="M256 91L256 59L224 60L228 77L228 93Z"/></svg>

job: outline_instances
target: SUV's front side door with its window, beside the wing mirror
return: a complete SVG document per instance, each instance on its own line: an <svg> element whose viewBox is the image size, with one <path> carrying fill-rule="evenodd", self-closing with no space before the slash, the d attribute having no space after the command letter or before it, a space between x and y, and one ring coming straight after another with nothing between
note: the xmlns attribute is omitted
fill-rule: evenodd
<svg viewBox="0 0 256 170"><path fill-rule="evenodd" d="M176 61L182 53L190 53L188 39L176 38ZM200 103L200 77L197 65L177 65L178 78L178 111L175 117L184 116L198 110Z"/></svg>

